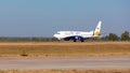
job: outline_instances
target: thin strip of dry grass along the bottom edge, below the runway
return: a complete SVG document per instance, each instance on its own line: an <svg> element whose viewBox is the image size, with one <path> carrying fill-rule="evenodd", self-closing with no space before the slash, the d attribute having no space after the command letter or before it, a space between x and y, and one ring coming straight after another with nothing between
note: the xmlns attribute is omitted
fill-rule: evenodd
<svg viewBox="0 0 130 73"><path fill-rule="evenodd" d="M130 70L8 70L0 73L130 73Z"/></svg>

